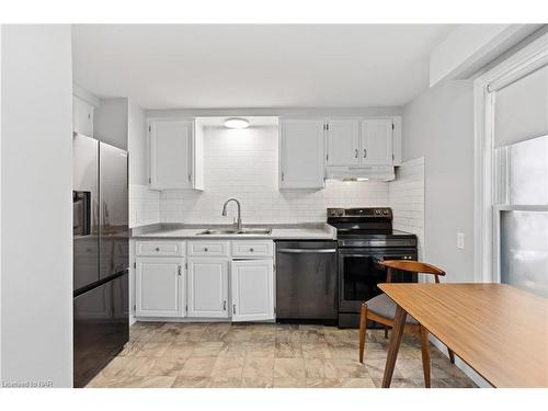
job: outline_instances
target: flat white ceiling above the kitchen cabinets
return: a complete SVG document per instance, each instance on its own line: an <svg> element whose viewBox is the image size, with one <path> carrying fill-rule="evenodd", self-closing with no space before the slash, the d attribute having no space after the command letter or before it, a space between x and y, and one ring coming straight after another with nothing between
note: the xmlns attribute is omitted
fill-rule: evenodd
<svg viewBox="0 0 548 411"><path fill-rule="evenodd" d="M75 82L145 109L400 106L453 25L75 25Z"/></svg>

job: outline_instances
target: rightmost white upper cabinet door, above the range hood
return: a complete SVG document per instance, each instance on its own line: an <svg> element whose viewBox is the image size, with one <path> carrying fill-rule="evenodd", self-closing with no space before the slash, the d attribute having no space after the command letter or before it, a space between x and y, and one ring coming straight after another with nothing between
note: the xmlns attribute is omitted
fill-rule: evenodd
<svg viewBox="0 0 548 411"><path fill-rule="evenodd" d="M362 122L362 164L392 164L392 119L378 118Z"/></svg>

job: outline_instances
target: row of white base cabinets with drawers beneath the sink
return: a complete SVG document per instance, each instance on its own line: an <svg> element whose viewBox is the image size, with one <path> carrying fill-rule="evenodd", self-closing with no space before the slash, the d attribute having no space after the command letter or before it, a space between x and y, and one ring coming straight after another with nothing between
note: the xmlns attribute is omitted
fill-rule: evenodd
<svg viewBox="0 0 548 411"><path fill-rule="evenodd" d="M274 320L272 240L135 241L135 318Z"/></svg>

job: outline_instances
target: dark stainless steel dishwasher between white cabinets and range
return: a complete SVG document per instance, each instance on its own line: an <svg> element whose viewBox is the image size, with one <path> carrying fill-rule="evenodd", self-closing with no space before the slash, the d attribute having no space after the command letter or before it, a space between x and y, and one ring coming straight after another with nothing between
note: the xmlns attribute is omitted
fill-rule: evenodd
<svg viewBox="0 0 548 411"><path fill-rule="evenodd" d="M276 320L338 320L336 241L276 241Z"/></svg>

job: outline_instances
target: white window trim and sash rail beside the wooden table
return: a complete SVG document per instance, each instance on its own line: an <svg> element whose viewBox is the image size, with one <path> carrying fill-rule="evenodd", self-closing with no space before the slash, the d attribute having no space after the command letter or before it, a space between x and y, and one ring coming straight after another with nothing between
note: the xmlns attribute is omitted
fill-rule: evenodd
<svg viewBox="0 0 548 411"><path fill-rule="evenodd" d="M548 64L548 33L528 44L500 65L475 80L475 279L500 282L500 243L495 194L494 101L495 92ZM525 209L527 207L515 207ZM539 207L534 207L538 209ZM546 207L544 207L546 208ZM543 208L543 209L544 209ZM512 208L514 209L514 208Z"/></svg>

